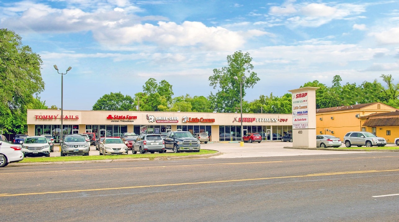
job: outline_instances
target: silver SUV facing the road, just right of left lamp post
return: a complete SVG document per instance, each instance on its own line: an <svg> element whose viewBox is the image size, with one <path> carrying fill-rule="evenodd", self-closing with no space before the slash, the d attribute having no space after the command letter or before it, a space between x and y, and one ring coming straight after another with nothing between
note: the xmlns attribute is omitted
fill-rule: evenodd
<svg viewBox="0 0 399 222"><path fill-rule="evenodd" d="M90 144L79 134L66 135L61 142L61 157L68 155L89 156Z"/></svg>

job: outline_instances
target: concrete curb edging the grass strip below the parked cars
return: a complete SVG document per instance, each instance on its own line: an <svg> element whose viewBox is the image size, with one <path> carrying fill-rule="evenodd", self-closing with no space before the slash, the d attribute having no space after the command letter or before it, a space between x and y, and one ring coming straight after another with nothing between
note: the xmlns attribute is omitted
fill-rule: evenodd
<svg viewBox="0 0 399 222"><path fill-rule="evenodd" d="M215 150L213 150L215 151ZM221 155L222 153L190 155L184 157L159 157L154 158L154 161L159 160L175 160L175 159L195 159L195 158L208 158ZM132 162L132 161L150 161L150 158L136 158L136 159L114 159L114 160L93 160L93 161L62 161L62 162L42 162L42 163L10 163L9 166L30 166L30 165L63 165L63 164L79 164L79 163L111 163L111 162Z"/></svg>

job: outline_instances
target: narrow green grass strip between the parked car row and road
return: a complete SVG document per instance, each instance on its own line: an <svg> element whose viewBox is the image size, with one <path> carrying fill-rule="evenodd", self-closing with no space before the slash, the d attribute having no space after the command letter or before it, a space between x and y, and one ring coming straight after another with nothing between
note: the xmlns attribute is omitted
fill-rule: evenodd
<svg viewBox="0 0 399 222"><path fill-rule="evenodd" d="M129 151L131 152L131 151ZM115 160L115 159L139 159L149 158L153 160L155 158L166 158L166 157L182 157L202 154L217 153L213 150L201 149L198 153L145 153L145 154L128 154L128 155L101 155L101 156L67 156L67 157L25 157L24 160L19 163L46 163L46 162L64 162L64 161L97 161L97 160Z"/></svg>

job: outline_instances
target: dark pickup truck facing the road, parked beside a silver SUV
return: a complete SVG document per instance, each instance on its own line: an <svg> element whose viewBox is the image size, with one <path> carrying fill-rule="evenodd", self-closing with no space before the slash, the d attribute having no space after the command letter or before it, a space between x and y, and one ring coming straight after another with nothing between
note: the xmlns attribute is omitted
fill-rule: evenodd
<svg viewBox="0 0 399 222"><path fill-rule="evenodd" d="M167 149L173 150L174 153L199 152L201 149L199 140L188 131L170 131L164 141L165 152Z"/></svg>

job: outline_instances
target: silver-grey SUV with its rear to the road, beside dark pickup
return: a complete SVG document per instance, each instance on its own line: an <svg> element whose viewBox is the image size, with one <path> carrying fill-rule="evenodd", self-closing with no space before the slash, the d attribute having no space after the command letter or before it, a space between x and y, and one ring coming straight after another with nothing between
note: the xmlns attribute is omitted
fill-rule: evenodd
<svg viewBox="0 0 399 222"><path fill-rule="evenodd" d="M133 144L132 153L164 153L165 141L160 134L141 134L138 136L136 142Z"/></svg>

